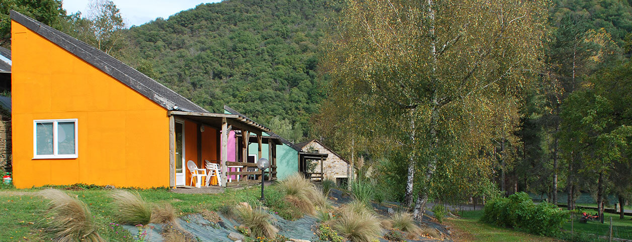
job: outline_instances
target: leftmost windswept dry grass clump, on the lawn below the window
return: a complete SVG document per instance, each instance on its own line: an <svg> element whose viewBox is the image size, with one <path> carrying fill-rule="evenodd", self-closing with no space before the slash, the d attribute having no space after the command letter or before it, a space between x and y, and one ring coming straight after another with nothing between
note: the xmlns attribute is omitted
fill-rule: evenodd
<svg viewBox="0 0 632 242"><path fill-rule="evenodd" d="M39 195L50 199L46 212L46 228L55 241L104 241L86 205L68 193L49 188Z"/></svg>

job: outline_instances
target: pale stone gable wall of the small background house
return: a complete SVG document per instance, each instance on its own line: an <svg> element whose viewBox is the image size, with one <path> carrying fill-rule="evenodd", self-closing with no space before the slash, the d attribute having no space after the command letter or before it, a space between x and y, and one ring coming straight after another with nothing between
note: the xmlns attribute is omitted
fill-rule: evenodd
<svg viewBox="0 0 632 242"><path fill-rule="evenodd" d="M349 166L342 158L336 156L336 154L329 151L329 149L321 146L318 142L310 142L307 146L303 147L305 152L318 152L321 154L329 154L327 159L323 162L324 178L336 181L336 178L348 177L347 168ZM320 161L312 161L317 164L314 169L315 172L320 171Z"/></svg>

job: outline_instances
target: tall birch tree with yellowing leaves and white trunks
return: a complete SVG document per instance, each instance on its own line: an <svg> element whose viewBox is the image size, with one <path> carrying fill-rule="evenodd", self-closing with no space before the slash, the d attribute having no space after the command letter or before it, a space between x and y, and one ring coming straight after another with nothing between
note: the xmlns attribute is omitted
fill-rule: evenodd
<svg viewBox="0 0 632 242"><path fill-rule="evenodd" d="M437 165L451 166L454 141L477 129L451 121L484 119L485 104L519 96L535 80L545 9L540 1L347 2L325 47L325 69L339 87L332 95L363 96L395 115L381 125L409 149L406 202L416 190L417 218Z"/></svg>

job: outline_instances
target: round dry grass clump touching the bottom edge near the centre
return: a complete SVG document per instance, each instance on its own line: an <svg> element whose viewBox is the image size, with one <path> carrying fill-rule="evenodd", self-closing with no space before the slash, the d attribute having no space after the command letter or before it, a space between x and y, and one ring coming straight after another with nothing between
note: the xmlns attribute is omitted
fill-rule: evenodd
<svg viewBox="0 0 632 242"><path fill-rule="evenodd" d="M344 205L340 217L334 221L334 228L345 238L360 242L374 241L382 230L375 212L360 201Z"/></svg>

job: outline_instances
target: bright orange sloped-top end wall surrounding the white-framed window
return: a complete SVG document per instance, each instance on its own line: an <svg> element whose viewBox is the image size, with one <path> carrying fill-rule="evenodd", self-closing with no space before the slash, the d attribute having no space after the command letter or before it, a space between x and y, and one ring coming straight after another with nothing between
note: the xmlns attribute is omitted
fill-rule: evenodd
<svg viewBox="0 0 632 242"><path fill-rule="evenodd" d="M15 186L169 186L164 108L11 21ZM78 118L78 158L33 159L33 120Z"/></svg>

